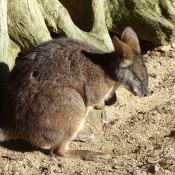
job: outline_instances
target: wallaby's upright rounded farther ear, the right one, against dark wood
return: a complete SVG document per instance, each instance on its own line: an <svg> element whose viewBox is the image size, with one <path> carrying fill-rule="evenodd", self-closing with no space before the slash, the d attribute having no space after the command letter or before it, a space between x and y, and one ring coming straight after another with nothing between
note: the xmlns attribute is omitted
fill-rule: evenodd
<svg viewBox="0 0 175 175"><path fill-rule="evenodd" d="M122 33L121 40L127 43L133 50L140 53L140 44L137 38L137 34L131 27L126 27Z"/></svg>

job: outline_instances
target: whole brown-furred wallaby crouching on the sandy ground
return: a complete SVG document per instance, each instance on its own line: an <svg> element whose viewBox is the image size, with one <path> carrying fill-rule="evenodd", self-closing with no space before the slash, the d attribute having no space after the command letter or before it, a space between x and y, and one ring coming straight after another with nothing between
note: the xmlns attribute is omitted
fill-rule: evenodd
<svg viewBox="0 0 175 175"><path fill-rule="evenodd" d="M114 51L103 52L84 42L60 38L45 42L16 65L7 80L0 141L24 139L36 147L50 145L50 154L86 160L109 154L69 150L71 140L92 137L78 133L90 108L116 100L123 85L134 95L148 95L148 74L136 33L125 28Z"/></svg>

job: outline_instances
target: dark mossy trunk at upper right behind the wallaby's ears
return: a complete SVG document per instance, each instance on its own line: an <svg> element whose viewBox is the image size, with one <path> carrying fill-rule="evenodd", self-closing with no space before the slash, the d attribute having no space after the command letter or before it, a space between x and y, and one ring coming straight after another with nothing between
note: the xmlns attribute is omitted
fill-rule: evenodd
<svg viewBox="0 0 175 175"><path fill-rule="evenodd" d="M175 42L175 1L172 0L111 0L106 16L109 31L121 34L132 26L138 37L157 45Z"/></svg>

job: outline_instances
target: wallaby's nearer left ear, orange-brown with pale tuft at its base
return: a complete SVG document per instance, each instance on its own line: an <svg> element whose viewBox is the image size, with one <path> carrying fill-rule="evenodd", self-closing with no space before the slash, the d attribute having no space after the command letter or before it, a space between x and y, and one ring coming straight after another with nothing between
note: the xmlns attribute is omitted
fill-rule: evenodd
<svg viewBox="0 0 175 175"><path fill-rule="evenodd" d="M130 66L133 61L131 59L129 59L129 58L126 58L125 48L122 45L122 42L116 36L113 37L113 45L114 45L114 49L115 49L115 52L117 53L117 55L120 58L122 58L120 66L121 67L128 67L128 66Z"/></svg>

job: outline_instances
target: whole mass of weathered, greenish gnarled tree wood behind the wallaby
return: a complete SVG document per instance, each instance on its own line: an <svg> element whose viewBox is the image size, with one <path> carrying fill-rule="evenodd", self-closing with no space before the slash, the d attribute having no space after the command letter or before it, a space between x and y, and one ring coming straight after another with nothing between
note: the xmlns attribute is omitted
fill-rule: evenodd
<svg viewBox="0 0 175 175"><path fill-rule="evenodd" d="M0 99L18 53L50 40L51 34L110 52L109 31L121 34L131 26L140 39L170 44L175 42L174 11L172 0L8 0L8 8L7 0L0 0Z"/></svg>

